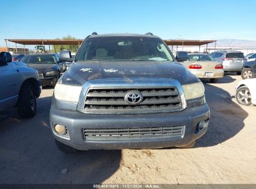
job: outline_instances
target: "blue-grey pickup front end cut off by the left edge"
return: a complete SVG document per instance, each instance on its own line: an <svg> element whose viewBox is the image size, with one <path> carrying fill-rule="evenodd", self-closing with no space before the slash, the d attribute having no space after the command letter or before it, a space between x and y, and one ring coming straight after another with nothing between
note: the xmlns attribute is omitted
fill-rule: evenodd
<svg viewBox="0 0 256 189"><path fill-rule="evenodd" d="M17 107L22 118L36 114L36 98L41 93L37 70L22 62L12 62L10 53L0 53L0 113Z"/></svg>

